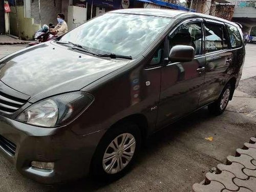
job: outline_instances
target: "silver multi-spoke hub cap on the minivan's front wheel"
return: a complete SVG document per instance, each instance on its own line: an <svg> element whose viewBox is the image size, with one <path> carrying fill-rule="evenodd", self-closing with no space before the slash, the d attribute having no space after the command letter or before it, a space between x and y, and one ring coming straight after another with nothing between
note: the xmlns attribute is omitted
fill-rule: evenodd
<svg viewBox="0 0 256 192"><path fill-rule="evenodd" d="M132 160L135 152L136 140L130 133L117 136L108 147L106 147L102 166L106 173L116 174L127 166Z"/></svg>

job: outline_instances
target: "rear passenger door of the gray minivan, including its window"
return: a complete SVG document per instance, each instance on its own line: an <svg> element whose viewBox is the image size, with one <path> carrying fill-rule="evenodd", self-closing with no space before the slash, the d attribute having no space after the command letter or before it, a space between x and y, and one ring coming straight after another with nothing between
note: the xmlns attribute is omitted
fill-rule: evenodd
<svg viewBox="0 0 256 192"><path fill-rule="evenodd" d="M224 23L215 20L204 21L205 34L205 82L199 105L203 106L218 99L230 74L233 54Z"/></svg>

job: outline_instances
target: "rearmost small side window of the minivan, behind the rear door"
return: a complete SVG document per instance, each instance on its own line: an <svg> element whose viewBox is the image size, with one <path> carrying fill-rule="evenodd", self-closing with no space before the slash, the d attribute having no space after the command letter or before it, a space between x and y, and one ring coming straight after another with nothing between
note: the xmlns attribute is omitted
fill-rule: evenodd
<svg viewBox="0 0 256 192"><path fill-rule="evenodd" d="M227 32L228 32L228 35L229 35L229 40L230 40L230 45L232 48L238 48L238 47L241 47L242 46L242 38L241 38L241 35L238 31L238 28L232 26L232 25L229 25L229 24L226 24L227 26Z"/></svg>

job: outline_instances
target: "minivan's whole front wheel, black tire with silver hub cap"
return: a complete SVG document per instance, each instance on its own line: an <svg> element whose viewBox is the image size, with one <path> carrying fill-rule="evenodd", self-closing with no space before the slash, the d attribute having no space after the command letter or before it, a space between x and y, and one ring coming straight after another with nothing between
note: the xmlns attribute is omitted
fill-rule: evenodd
<svg viewBox="0 0 256 192"><path fill-rule="evenodd" d="M97 146L91 174L100 179L118 179L134 163L140 150L141 133L136 124L125 123L109 130Z"/></svg>

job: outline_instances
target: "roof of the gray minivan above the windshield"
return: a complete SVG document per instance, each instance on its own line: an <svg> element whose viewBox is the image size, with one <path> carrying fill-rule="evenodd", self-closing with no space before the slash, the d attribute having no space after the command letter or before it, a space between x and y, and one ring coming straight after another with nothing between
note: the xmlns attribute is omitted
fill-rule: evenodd
<svg viewBox="0 0 256 192"><path fill-rule="evenodd" d="M151 16L160 16L160 17L169 17L169 18L175 18L181 15L187 16L187 17L203 17L203 18L208 18L208 19L214 19L218 20L220 22L225 22L229 23L232 25L236 25L239 27L239 25L229 22L228 20L211 16L211 15L206 15L202 13L195 13L195 12L187 12L187 11L180 11L180 10L173 10L173 9L118 9L115 11L111 11L112 13L126 13L126 14L138 14L138 15L151 15Z"/></svg>

